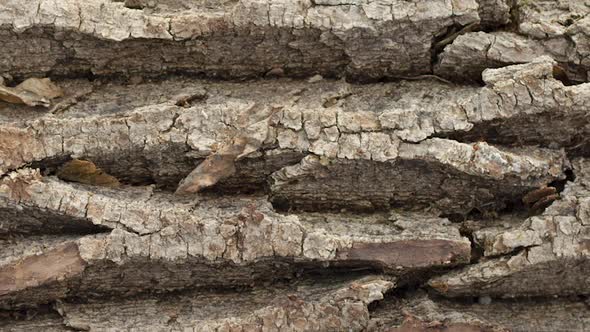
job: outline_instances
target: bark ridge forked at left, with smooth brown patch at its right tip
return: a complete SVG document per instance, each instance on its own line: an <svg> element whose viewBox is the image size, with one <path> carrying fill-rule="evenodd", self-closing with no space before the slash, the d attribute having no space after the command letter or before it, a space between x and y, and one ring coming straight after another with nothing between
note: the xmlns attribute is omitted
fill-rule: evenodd
<svg viewBox="0 0 590 332"><path fill-rule="evenodd" d="M49 262L52 257L61 257L59 249L48 247L41 253L25 252L7 259L0 271L9 288L0 300L11 305L51 301L73 293L83 297L89 292L249 285L292 278L320 267L379 270L402 276L464 264L470 259L470 242L448 220L431 215L283 215L274 212L263 198L183 202L149 188L98 190L41 178L33 170L20 171L12 183L20 184L20 195L14 199L13 191L6 192L8 199L4 202L14 208L28 208L21 211L23 219L13 221L17 225L30 220L27 211L34 210L37 215L61 215L71 218L72 223L84 220L112 231L70 237L63 246L80 253L81 269L64 267L56 275L67 275L36 280L30 288L11 286L15 269L23 270L30 260ZM346 224L341 224L343 219ZM51 224L51 219L36 221ZM42 246L46 240L39 241ZM406 256L407 243L430 249ZM14 246L22 247L18 243ZM368 246L397 250L398 258L358 250ZM198 280L193 280L195 274ZM46 293L45 289L51 291Z"/></svg>

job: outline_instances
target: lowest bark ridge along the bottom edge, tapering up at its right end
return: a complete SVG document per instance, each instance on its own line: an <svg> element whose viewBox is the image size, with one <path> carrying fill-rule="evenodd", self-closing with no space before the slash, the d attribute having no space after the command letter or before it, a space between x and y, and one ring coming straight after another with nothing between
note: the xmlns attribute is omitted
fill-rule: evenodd
<svg viewBox="0 0 590 332"><path fill-rule="evenodd" d="M159 300L144 296L111 301L60 302L54 306L59 312L58 317L45 314L27 321L13 320L6 328L9 331L23 331L35 326L51 331L68 328L360 331L369 322L368 306L382 299L393 286L394 282L386 277L333 277L240 292L188 291ZM225 310L218 310L220 307ZM140 313L142 320L133 319Z"/></svg>

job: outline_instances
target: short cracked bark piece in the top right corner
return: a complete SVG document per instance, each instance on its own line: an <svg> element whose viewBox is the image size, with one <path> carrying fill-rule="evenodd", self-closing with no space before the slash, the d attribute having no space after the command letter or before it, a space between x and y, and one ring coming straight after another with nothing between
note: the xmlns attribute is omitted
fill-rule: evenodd
<svg viewBox="0 0 590 332"><path fill-rule="evenodd" d="M569 80L586 82L590 7L577 1L514 2L514 29L459 36L439 55L434 72L478 80L486 68L526 63L547 55L563 66Z"/></svg>

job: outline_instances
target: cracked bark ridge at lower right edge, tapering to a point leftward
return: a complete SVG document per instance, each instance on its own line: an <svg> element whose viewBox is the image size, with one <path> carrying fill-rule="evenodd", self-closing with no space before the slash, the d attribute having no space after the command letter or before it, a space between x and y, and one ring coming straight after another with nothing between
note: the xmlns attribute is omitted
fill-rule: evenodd
<svg viewBox="0 0 590 332"><path fill-rule="evenodd" d="M574 165L576 180L566 185L560 200L516 227L476 231L474 238L489 258L436 277L429 285L448 296L586 294L590 289L588 161L576 160ZM498 255L504 256L494 257Z"/></svg>

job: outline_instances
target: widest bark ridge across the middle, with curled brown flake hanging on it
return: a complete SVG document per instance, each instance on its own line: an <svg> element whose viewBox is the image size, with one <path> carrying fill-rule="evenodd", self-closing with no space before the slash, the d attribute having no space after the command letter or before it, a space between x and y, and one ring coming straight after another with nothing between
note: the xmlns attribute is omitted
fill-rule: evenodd
<svg viewBox="0 0 590 332"><path fill-rule="evenodd" d="M580 131L545 132L533 124L533 119L551 109L577 127L587 127L585 120L578 121L586 84L564 86L551 78L551 68L550 59L540 58L497 69L486 74L489 83L481 89L434 82L369 88L320 81L314 83L314 90L301 82L253 83L261 91L269 89L268 95L260 95L240 84L171 81L170 92L159 91L160 97L146 100L140 94L139 100L121 102L117 86L102 87L58 117L4 123L0 128L6 146L3 170L32 164L52 173L60 160L82 158L123 183L175 190L191 169L211 162L204 162L206 158L228 147L240 147L229 164L209 167L209 173L195 170L195 178L185 182L204 181L196 186L211 187L217 193L265 192L279 208L433 206L446 209L447 214L465 214L482 205L501 209L538 186L563 179L567 161L559 152L546 149L505 149L485 142L429 137L454 135L470 141L483 132L484 138L503 144L524 141L571 147ZM522 88L507 85L515 81ZM148 92L157 86L137 87ZM132 88L120 87L123 91ZM435 88L449 99L425 95L423 88ZM392 89L401 90L401 95L392 96ZM561 91L562 96L544 97L550 90L553 94ZM233 97L228 100L226 94ZM420 108L408 106L418 96L430 97ZM272 100L270 105L263 103L265 98ZM370 103L369 98L380 102ZM187 100L190 105L177 105ZM500 103L504 100L511 101ZM115 112L103 110L113 103L120 105ZM442 109L438 108L441 103ZM96 109L100 111L94 112ZM80 117L91 110L98 114ZM522 118L528 122L519 121ZM513 138L500 140L493 129L498 123L507 131L512 123L526 126L513 126L512 136L506 136ZM84 126L97 130L80 131ZM16 141L15 136L19 137ZM236 144L237 140L245 145ZM26 154L21 153L21 145ZM414 181L417 173L422 181ZM446 179L449 174L453 179ZM317 178L323 181L315 181ZM315 188L317 185L323 187ZM465 185L478 195L453 189Z"/></svg>

